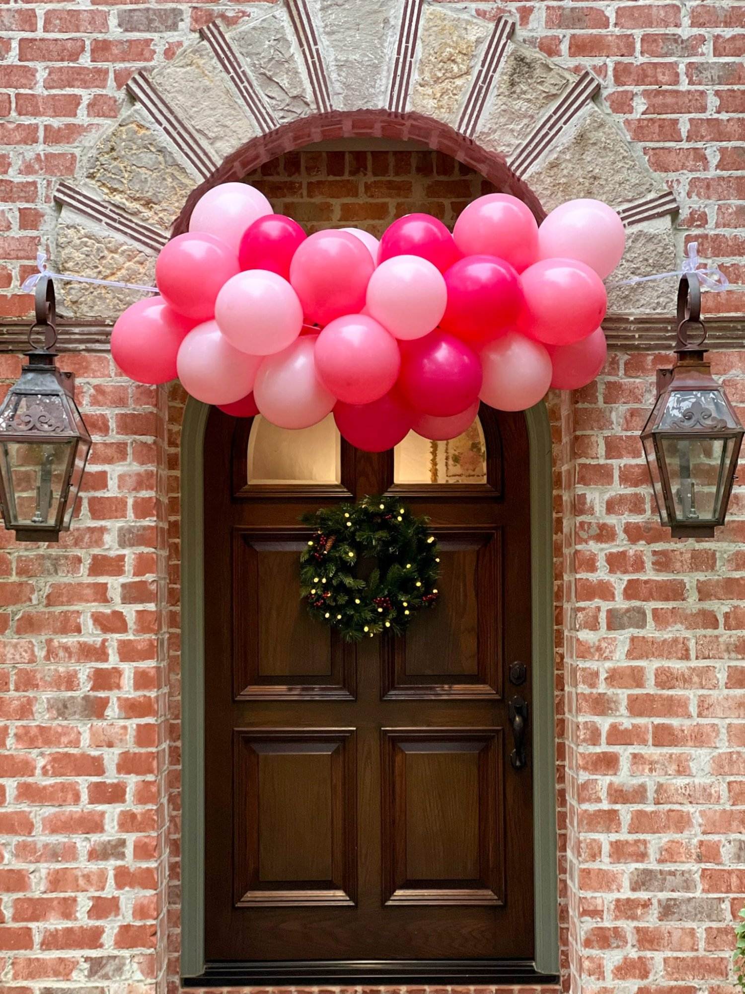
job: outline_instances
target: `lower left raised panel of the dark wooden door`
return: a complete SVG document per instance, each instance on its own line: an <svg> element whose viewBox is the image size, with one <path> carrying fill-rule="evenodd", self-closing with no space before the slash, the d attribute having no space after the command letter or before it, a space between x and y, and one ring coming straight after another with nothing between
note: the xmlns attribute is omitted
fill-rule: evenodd
<svg viewBox="0 0 745 994"><path fill-rule="evenodd" d="M354 905L354 730L233 735L235 906Z"/></svg>

